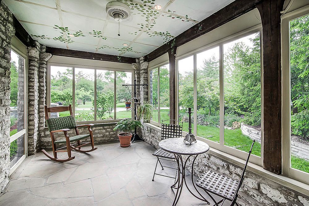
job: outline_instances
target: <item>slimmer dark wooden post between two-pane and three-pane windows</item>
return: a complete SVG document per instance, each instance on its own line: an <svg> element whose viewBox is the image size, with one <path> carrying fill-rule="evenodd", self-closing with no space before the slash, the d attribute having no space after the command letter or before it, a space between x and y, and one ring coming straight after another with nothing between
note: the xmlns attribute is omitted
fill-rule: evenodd
<svg viewBox="0 0 309 206"><path fill-rule="evenodd" d="M176 47L168 50L170 65L170 119L176 120ZM171 124L174 124L171 122Z"/></svg>

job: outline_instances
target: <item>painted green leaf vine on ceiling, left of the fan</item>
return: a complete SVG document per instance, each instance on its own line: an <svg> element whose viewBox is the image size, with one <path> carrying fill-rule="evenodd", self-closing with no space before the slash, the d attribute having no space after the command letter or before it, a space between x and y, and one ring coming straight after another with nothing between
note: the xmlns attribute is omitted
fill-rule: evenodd
<svg viewBox="0 0 309 206"><path fill-rule="evenodd" d="M57 25L54 25L54 26L55 26L55 27L53 27L54 29L60 30L61 35L53 37L52 39L56 40L56 41L61 41L63 43L72 44L74 42L74 40L72 40L71 37L80 37L80 36L93 36L93 37L96 37L96 38L101 38L103 40L107 40L107 38L105 36L103 36L102 31L92 30L92 32L84 33L81 30L79 30L79 31L70 32L69 27L59 27ZM51 37L49 37L47 35L30 34L30 36L40 38L40 39L51 39Z"/></svg>

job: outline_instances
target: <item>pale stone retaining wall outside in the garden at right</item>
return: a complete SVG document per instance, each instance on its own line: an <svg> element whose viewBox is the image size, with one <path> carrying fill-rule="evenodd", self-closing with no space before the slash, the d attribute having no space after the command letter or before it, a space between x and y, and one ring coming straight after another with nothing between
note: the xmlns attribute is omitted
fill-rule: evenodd
<svg viewBox="0 0 309 206"><path fill-rule="evenodd" d="M261 132L255 128L249 127L246 124L241 124L241 132L250 137L252 140L256 140L261 143ZM309 161L309 145L297 141L291 140L291 153L296 157L306 159Z"/></svg>

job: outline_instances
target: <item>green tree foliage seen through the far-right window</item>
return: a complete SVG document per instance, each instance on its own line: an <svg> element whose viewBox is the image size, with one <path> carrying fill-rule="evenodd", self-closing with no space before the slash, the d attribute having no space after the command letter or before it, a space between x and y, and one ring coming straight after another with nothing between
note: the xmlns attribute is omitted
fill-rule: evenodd
<svg viewBox="0 0 309 206"><path fill-rule="evenodd" d="M309 15L290 21L291 132L309 139Z"/></svg>

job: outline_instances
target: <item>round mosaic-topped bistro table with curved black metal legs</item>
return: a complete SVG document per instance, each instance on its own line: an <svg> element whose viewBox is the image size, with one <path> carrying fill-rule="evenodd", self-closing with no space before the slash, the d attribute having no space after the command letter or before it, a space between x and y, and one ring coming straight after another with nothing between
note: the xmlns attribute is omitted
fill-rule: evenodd
<svg viewBox="0 0 309 206"><path fill-rule="evenodd" d="M193 182L194 161L199 154L203 154L203 153L205 153L209 150L209 145L206 144L205 142L199 141L199 140L197 140L195 143L192 143L192 145L188 145L188 144L184 143L183 138L168 138L168 139L165 139L165 140L161 140L159 142L159 147L161 149L167 151L167 152L173 153L175 155L176 162L177 162L177 165L178 165L178 178L175 181L175 183L171 186L171 188L177 189L175 199L174 199L172 206L175 206L178 203L178 200L180 198L181 191L182 191L182 188L183 188L183 183L187 187L188 191L194 197L196 197L199 200L206 202L207 204L210 204L210 202L208 200L206 200L201 195L201 193L197 190L197 188L196 188L196 186ZM188 157L185 158L185 160L183 160L182 155L187 155ZM193 157L192 168L191 168L191 181L192 181L192 184L193 184L195 191L198 193L198 195L200 195L200 197L195 195L189 189L187 182L186 182L185 169L186 169L186 164L187 164L190 157ZM176 185L177 185L177 187L176 187Z"/></svg>

